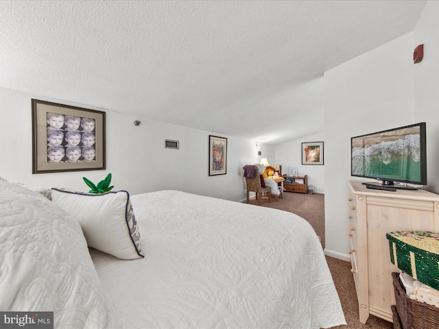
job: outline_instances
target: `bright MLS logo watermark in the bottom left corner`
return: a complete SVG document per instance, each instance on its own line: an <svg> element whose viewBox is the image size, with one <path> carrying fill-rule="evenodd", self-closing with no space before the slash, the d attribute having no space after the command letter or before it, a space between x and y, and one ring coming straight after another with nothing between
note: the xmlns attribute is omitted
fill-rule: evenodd
<svg viewBox="0 0 439 329"><path fill-rule="evenodd" d="M54 329L54 313L0 311L0 328Z"/></svg>

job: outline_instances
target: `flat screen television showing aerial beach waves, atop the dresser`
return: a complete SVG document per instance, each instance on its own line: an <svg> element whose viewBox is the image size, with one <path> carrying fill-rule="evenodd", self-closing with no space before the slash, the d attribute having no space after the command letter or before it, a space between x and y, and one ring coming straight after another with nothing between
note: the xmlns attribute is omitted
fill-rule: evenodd
<svg viewBox="0 0 439 329"><path fill-rule="evenodd" d="M382 185L427 184L425 122L351 138L351 175ZM367 183L364 183L367 184Z"/></svg>

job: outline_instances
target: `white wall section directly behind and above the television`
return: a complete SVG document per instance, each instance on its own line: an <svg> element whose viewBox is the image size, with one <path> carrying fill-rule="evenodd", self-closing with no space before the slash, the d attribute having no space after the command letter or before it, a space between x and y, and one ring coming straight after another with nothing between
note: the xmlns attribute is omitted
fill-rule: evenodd
<svg viewBox="0 0 439 329"><path fill-rule="evenodd" d="M326 249L348 259L351 137L415 123L413 33L324 74ZM429 123L427 123L427 129Z"/></svg>

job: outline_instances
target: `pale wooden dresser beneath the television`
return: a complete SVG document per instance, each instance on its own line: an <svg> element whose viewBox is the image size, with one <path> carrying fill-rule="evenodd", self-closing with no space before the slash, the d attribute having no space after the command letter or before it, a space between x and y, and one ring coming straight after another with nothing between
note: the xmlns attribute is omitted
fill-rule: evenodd
<svg viewBox="0 0 439 329"><path fill-rule="evenodd" d="M423 190L381 191L348 181L350 195L348 239L359 304L359 321L370 314L392 322L395 304L386 232L439 231L439 195Z"/></svg>

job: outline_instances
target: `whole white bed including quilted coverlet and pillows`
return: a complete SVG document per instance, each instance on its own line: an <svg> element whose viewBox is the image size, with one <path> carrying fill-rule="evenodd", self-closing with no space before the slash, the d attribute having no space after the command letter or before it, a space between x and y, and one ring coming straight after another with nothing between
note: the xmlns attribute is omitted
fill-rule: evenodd
<svg viewBox="0 0 439 329"><path fill-rule="evenodd" d="M292 213L178 191L39 192L0 180L1 311L52 311L57 329L346 324L320 241Z"/></svg>

